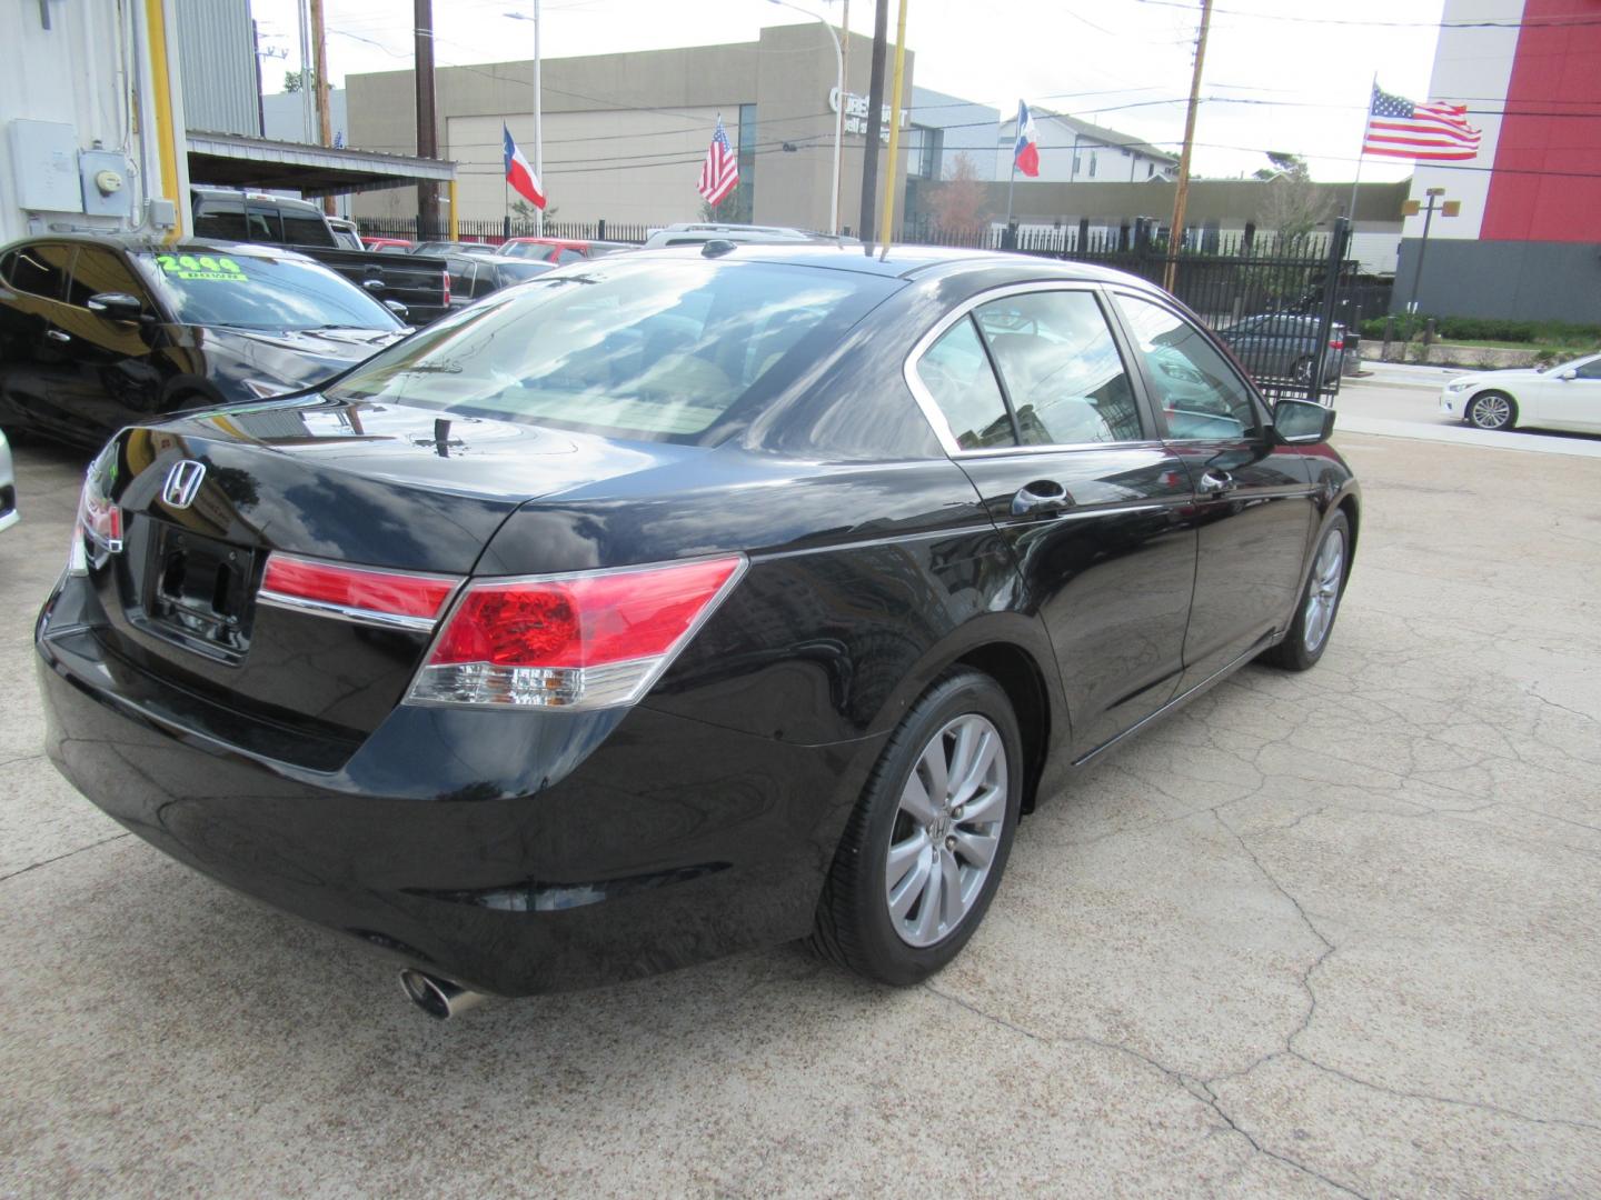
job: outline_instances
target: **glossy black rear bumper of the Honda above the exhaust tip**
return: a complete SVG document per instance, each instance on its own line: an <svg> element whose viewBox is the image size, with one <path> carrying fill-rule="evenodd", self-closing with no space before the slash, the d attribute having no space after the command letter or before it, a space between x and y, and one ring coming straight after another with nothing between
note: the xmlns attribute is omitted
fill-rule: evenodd
<svg viewBox="0 0 1601 1200"><path fill-rule="evenodd" d="M311 771L219 736L229 714L136 678L59 600L37 630L46 749L83 795L223 883L500 995L805 934L884 741L400 707Z"/></svg>

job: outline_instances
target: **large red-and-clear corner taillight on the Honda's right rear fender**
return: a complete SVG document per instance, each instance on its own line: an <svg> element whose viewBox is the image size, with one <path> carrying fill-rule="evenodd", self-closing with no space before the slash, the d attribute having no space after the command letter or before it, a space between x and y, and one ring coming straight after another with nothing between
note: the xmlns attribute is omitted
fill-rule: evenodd
<svg viewBox="0 0 1601 1200"><path fill-rule="evenodd" d="M741 557L469 584L410 699L629 704L727 595Z"/></svg>

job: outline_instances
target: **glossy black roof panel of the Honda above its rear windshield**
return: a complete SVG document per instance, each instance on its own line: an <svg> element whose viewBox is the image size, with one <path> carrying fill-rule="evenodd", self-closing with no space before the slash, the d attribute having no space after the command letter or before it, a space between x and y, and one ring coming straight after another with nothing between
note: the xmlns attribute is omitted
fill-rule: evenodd
<svg viewBox="0 0 1601 1200"><path fill-rule="evenodd" d="M1017 272L1020 282L1031 278L1063 278L1153 286L1135 275L1109 267L1058 258L1041 258L1039 254L965 250L961 246L890 246L890 253L881 259L876 253L863 253L865 250L868 248L860 245L836 246L817 242L740 242L735 243L733 250L724 251L717 258L720 261L760 261L799 267L829 267L833 270L852 270L863 275L908 280L930 274L959 275L1007 267ZM650 253L653 256L703 258L706 248L704 245L664 246Z"/></svg>

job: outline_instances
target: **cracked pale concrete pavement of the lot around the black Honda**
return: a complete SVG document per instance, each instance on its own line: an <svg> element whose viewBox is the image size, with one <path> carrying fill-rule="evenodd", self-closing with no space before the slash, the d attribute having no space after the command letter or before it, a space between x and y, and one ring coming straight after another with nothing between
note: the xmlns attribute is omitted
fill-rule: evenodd
<svg viewBox="0 0 1601 1200"><path fill-rule="evenodd" d="M18 446L0 1195L1596 1192L1601 462L1338 445L1367 506L1318 670L1045 802L930 986L784 947L448 1024L43 760L83 458Z"/></svg>

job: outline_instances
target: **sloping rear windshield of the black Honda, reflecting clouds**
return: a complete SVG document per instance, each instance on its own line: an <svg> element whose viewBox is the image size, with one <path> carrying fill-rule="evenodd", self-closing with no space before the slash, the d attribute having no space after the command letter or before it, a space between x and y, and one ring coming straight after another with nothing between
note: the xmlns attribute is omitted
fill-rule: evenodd
<svg viewBox="0 0 1601 1200"><path fill-rule="evenodd" d="M897 286L775 262L608 258L437 322L327 395L698 443Z"/></svg>

